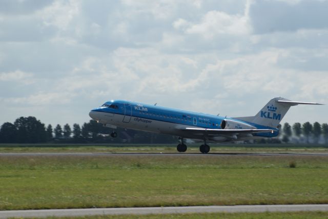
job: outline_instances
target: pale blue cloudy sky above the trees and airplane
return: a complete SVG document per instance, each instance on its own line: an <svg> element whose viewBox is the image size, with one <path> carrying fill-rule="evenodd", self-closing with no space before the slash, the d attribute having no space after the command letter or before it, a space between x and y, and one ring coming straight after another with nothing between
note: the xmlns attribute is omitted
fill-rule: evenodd
<svg viewBox="0 0 328 219"><path fill-rule="evenodd" d="M0 124L88 122L112 99L228 117L328 104L328 1L0 1ZM327 106L282 120L328 122Z"/></svg>

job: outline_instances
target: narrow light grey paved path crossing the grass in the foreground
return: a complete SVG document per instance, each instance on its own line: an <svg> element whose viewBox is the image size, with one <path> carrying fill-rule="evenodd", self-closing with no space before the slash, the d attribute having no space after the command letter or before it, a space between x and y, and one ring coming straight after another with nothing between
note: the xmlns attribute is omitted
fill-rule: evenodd
<svg viewBox="0 0 328 219"><path fill-rule="evenodd" d="M239 205L239 206L194 206L194 207L150 207L150 208L89 208L53 210L0 211L0 218L87 216L105 214L165 214L165 213L213 213L213 212L293 212L328 211L328 205Z"/></svg>

